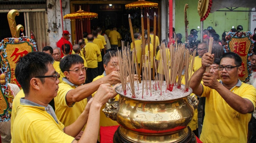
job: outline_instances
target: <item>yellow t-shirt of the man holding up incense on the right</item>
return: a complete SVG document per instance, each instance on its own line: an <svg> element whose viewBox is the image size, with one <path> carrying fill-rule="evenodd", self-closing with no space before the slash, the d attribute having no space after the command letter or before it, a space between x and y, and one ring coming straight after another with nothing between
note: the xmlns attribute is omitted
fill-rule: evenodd
<svg viewBox="0 0 256 143"><path fill-rule="evenodd" d="M239 87L238 84L241 86ZM256 89L240 80L238 84L230 91L250 100L255 107ZM200 140L203 143L246 143L251 114L238 113L225 102L216 90L204 85L202 97L206 97L206 101Z"/></svg>

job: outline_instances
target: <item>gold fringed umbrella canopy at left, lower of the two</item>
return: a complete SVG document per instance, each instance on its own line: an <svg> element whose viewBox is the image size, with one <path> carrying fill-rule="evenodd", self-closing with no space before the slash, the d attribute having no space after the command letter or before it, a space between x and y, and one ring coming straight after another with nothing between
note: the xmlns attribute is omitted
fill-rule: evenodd
<svg viewBox="0 0 256 143"><path fill-rule="evenodd" d="M98 14L83 11L83 10L81 10L81 6L80 6L79 11L70 13L70 14L66 14L63 18L64 19L98 18Z"/></svg>

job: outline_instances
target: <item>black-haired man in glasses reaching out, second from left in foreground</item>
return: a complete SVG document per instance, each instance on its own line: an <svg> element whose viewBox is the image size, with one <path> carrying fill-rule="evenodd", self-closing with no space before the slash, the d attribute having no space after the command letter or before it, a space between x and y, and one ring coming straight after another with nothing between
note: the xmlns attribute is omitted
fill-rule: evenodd
<svg viewBox="0 0 256 143"><path fill-rule="evenodd" d="M118 80L120 77L114 71L106 77L84 84L86 78L84 60L77 54L64 57L60 61L60 69L65 77L59 84L58 96L54 98L54 102L56 116L65 126L75 122L85 109L87 97L97 91L101 84L120 83Z"/></svg>

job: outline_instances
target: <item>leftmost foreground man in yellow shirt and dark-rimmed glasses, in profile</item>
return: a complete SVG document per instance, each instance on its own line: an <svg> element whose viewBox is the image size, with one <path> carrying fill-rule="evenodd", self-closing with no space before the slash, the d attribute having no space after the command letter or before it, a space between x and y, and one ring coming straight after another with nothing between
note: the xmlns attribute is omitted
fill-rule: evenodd
<svg viewBox="0 0 256 143"><path fill-rule="evenodd" d="M53 58L43 52L31 52L16 64L15 76L22 86L25 97L20 99L13 122L14 143L43 142L96 142L100 122L100 108L113 97L110 84L101 85L93 100L88 103L76 121L64 126L48 103L57 96L58 73L53 68ZM45 92L47 91L47 92ZM74 137L87 123L79 141ZM90 137L90 138L88 138Z"/></svg>

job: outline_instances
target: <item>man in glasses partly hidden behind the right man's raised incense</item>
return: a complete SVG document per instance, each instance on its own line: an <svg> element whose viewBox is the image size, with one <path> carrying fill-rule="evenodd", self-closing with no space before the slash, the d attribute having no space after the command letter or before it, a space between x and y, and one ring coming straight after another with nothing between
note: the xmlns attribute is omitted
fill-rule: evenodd
<svg viewBox="0 0 256 143"><path fill-rule="evenodd" d="M208 48L209 48L209 45L205 42L201 42L198 44L196 48L198 56L195 57L193 71L197 71L202 66L201 64L202 56L203 54L208 52Z"/></svg>

